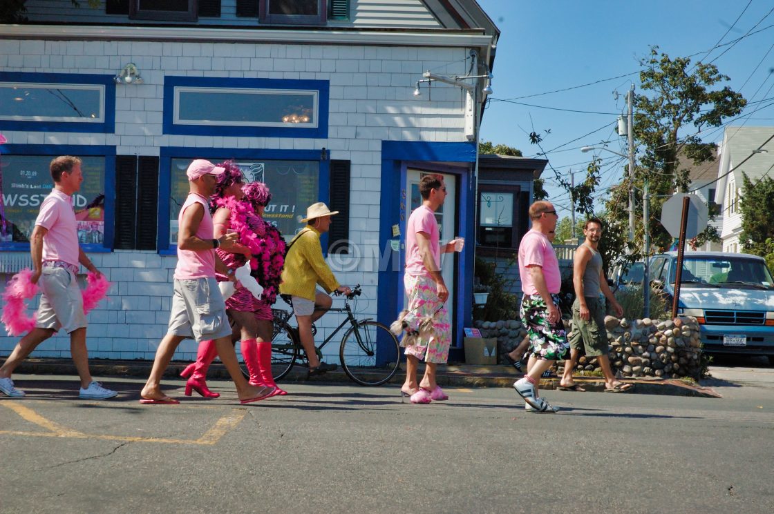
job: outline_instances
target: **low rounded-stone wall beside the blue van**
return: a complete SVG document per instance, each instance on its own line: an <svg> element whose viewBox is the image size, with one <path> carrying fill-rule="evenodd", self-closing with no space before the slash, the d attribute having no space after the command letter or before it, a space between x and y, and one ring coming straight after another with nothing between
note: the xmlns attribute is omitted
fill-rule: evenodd
<svg viewBox="0 0 774 514"><path fill-rule="evenodd" d="M497 338L499 362L507 364L505 353L524 339L526 329L519 320L474 322L485 338ZM567 335L573 329L572 320L564 320ZM613 373L620 376L653 376L700 378L701 343L696 318L679 317L667 320L649 318L629 321L613 316L604 318L610 351L608 356ZM600 372L597 359L582 356L578 371Z"/></svg>

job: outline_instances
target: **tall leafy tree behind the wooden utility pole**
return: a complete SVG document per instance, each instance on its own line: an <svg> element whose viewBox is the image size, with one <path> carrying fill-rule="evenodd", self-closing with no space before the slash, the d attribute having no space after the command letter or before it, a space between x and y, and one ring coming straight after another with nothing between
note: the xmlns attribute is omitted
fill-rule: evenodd
<svg viewBox="0 0 774 514"><path fill-rule="evenodd" d="M650 218L648 230L655 247L669 247L672 237L659 223L661 207L673 192L686 190L687 169L681 168L679 155L695 165L713 160L714 143L705 143L700 131L719 127L724 119L739 114L747 104L741 94L728 86L720 87L728 77L713 64L696 63L690 58L670 59L652 46L649 56L640 60L645 68L639 74L642 90L635 96L634 138L640 155L635 168L635 240L628 242L632 252L642 252L642 184L649 179ZM687 133L690 129L691 133ZM627 178L611 189L606 208L613 220L628 220ZM639 212L639 215L638 215ZM628 223L628 221L626 222ZM704 237L712 238L711 234Z"/></svg>

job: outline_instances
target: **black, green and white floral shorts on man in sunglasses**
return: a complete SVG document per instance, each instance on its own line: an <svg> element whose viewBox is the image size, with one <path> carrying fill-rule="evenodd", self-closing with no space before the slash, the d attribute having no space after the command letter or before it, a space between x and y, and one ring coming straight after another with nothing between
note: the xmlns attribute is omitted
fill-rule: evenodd
<svg viewBox="0 0 774 514"><path fill-rule="evenodd" d="M551 294L553 305L559 308L559 296ZM546 301L539 294L525 294L519 309L522 325L529 336L529 355L543 360L564 360L570 357L570 344L561 320L548 321Z"/></svg>

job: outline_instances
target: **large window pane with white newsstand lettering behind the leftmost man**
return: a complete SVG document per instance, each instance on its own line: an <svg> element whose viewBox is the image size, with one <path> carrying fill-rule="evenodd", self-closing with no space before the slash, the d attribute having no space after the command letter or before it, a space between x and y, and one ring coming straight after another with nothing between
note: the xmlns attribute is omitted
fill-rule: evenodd
<svg viewBox="0 0 774 514"><path fill-rule="evenodd" d="M55 155L2 155L0 241L29 243L40 204L53 188L49 165ZM104 157L84 157L84 182L73 198L80 243L104 237Z"/></svg>

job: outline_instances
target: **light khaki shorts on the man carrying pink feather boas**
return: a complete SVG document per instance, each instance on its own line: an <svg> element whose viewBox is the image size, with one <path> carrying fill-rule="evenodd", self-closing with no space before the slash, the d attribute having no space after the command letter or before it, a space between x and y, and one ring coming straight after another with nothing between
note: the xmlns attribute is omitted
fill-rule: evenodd
<svg viewBox="0 0 774 514"><path fill-rule="evenodd" d="M78 328L86 328L84 298L75 274L63 267L43 267L38 281L43 295L40 297L36 328L60 328L69 334Z"/></svg>

